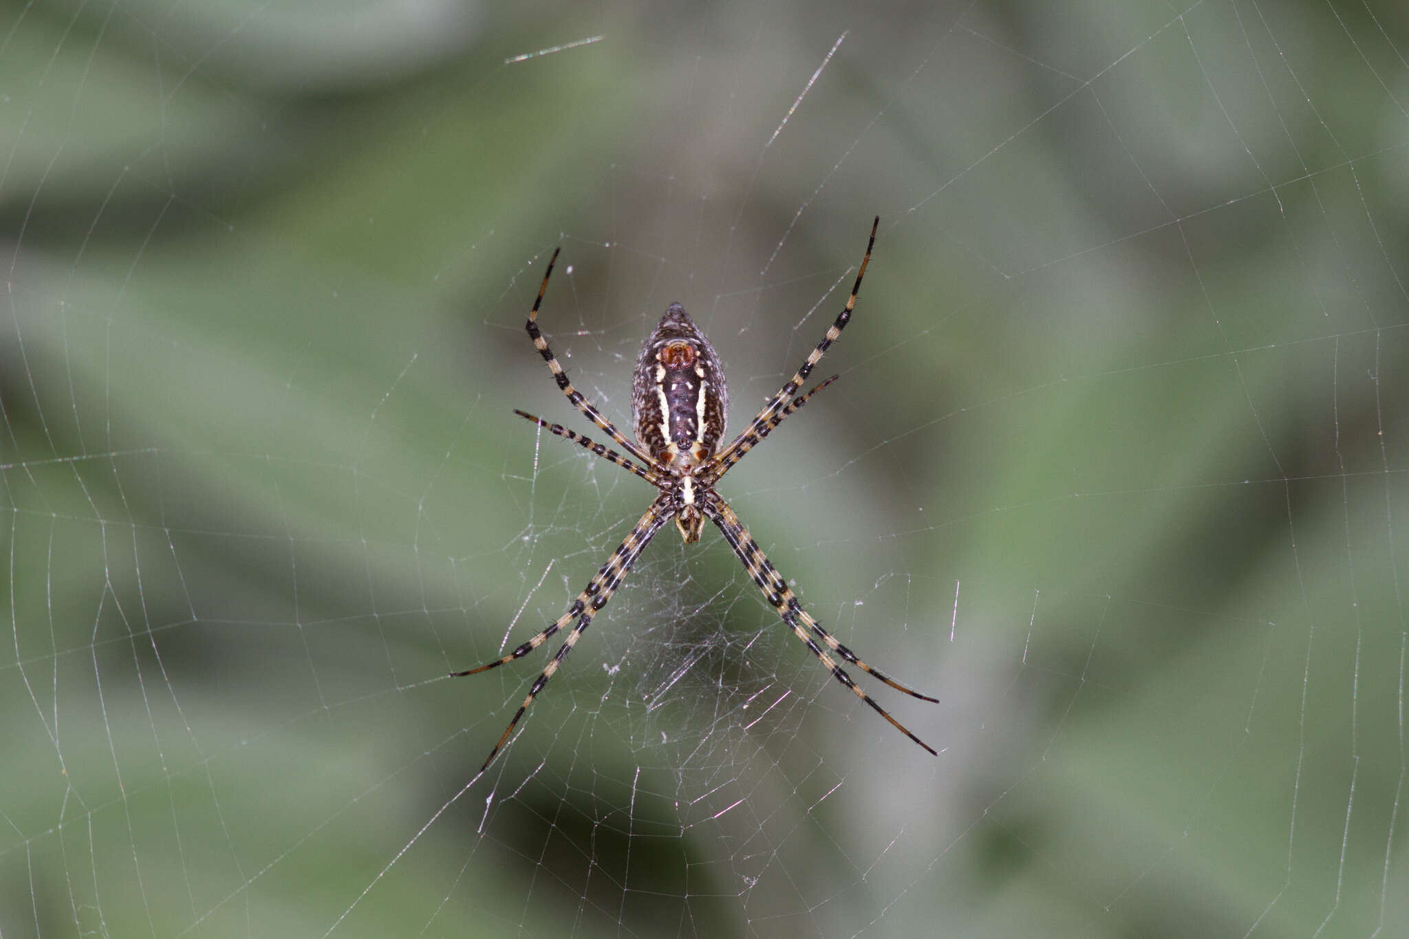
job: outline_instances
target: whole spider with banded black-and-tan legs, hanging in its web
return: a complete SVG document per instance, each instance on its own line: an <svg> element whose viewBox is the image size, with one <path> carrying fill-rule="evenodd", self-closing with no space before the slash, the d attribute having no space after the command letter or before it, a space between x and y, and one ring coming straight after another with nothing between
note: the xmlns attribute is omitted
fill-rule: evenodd
<svg viewBox="0 0 1409 939"><path fill-rule="evenodd" d="M509 664L514 659L524 657L547 642L555 632L576 619L576 625L572 626L566 641L534 680L533 687L528 688L528 697L519 705L519 711L504 729L504 735L499 738L499 743L489 752L485 764L479 769L480 773L488 770L489 764L499 756L499 750L503 749L514 728L519 726L519 721L528 711L528 705L538 697L538 693L548 684L558 666L572 652L572 646L578 643L582 634L592 625L592 618L607 605L621 579L631 570L631 565L635 563L635 559L641 556L641 552L645 550L645 546L651 543L651 539L655 538L655 534L661 531L665 522L674 521L675 527L681 531L681 538L689 545L699 541L706 518L714 522L714 527L724 535L724 541L728 542L734 555L744 565L744 569L748 570L748 576L764 591L764 597L768 598L769 605L778 611L778 615L793 631L793 635L831 672L831 676L871 705L876 714L889 721L898 731L931 755L938 756L929 743L906 729L905 725L876 704L869 694L862 691L821 646L827 646L827 649L841 659L845 659L848 663L898 691L903 691L921 701L938 704L938 700L907 688L876 669L872 669L858 659L851 649L841 645L830 632L823 629L821 624L813 619L797 603L797 597L789 590L772 562L764 556L758 542L752 539L738 521L738 517L734 515L734 510L714 491L714 486L719 484L724 473L768 436L775 427L782 424L783 418L805 405L813 394L837 380L838 376L831 376L806 394L797 394L797 390L807 380L807 376L812 374L813 367L827 352L827 348L837 341L837 336L841 335L841 331L851 320L851 308L857 304L857 291L861 290L861 279L865 276L867 265L871 262L871 249L875 246L876 227L879 224L881 217L878 215L871 224L871 241L867 242L867 253L861 259L861 267L857 270L857 282L851 287L851 296L847 297L847 305L837 314L837 321L831 324L831 328L827 329L817 348L807 355L807 359L788 383L768 398L764 410L723 449L719 449L719 445L724 438L724 421L728 411L728 391L724 387L724 372L714 346L710 345L710 341L704 338L704 334L700 332L689 314L685 313L685 307L678 303L669 305L665 315L661 317L659 324L657 324L655 331L641 345L641 355L635 363L635 373L631 379L631 421L637 442L631 442L623 436L592 401L572 387L572 382L568 380L562 365L558 363L552 349L548 348L548 341L538 331L538 305L542 303L542 294L548 289L548 277L552 276L552 266L558 260L558 252L562 249L558 248L552 252L552 258L548 260L548 270L544 273L542 284L538 287L538 298L534 300L533 310L528 311L528 321L524 324L524 328L528 331L528 338L533 339L534 348L538 349L538 355L548 363L548 369L552 372L558 387L568 396L573 407L604 431L628 456L596 443L561 424L550 424L540 417L519 410L514 410L514 414L533 421L550 434L566 438L592 450L602 459L616 463L630 473L635 473L655 486L659 490L659 496L655 497L655 501L645 510L641 519L627 534L626 539L617 545L617 549L612 552L607 562L593 574L592 580L588 581L588 586L582 588L582 593L578 594L562 617L548 624L538 635L519 645L509 655L482 664L478 669L451 673L451 677L458 679ZM795 394L797 397L793 397ZM821 645L817 645L819 641Z"/></svg>

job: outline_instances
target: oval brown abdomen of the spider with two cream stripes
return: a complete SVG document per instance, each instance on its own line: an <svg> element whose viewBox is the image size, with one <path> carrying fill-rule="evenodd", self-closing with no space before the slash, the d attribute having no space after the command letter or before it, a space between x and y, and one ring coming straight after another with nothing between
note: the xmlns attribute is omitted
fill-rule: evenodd
<svg viewBox="0 0 1409 939"><path fill-rule="evenodd" d="M678 469L699 466L724 436L728 390L714 346L672 303L641 345L631 379L635 439Z"/></svg>

